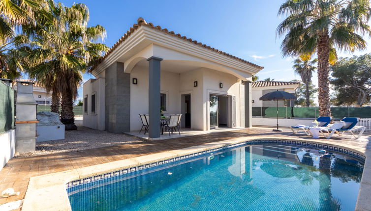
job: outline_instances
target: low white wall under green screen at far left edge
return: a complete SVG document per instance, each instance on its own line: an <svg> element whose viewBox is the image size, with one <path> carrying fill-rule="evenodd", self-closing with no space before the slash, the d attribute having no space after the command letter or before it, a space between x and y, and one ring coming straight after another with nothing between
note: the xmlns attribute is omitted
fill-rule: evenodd
<svg viewBox="0 0 371 211"><path fill-rule="evenodd" d="M0 170L15 153L15 130L0 134Z"/></svg>

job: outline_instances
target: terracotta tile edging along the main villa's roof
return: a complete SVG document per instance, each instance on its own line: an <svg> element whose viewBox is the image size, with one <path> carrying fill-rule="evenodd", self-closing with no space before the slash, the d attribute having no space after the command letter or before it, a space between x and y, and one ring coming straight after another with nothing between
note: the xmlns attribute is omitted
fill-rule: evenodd
<svg viewBox="0 0 371 211"><path fill-rule="evenodd" d="M100 63L100 62L102 62L109 54L111 54L112 52L113 52L113 50L115 50L121 43L123 43L126 39L127 39L127 37L128 36L130 36L130 34L131 33L133 33L139 26L149 26L149 27L151 27L151 28L154 28L154 29L157 29L157 30L159 30L159 31L162 31L162 32L165 32L166 34L170 34L170 35L173 35L173 36L177 36L177 37L179 37L179 38L181 38L181 39L184 39L184 40L187 40L187 41L189 41L190 43L194 43L194 44L196 44L196 45L199 45L199 46L201 46L201 47L203 47L203 48L206 48L206 49L209 49L209 50L211 50L211 51L214 51L214 52L216 52L216 53L220 53L220 54L223 54L223 55L226 55L226 56L229 56L229 57L231 57L231 58L233 58L233 59L236 59L236 60L238 60L238 61L240 61L240 62L243 62L243 63L246 63L246 64L248 64L248 65L251 65L251 66L253 66L253 67L255 67L255 68L258 68L258 69L263 69L263 67L262 66L259 66L259 65L256 65L256 64L253 64L253 63L251 63L251 62L248 62L248 61L246 61L246 60L244 60L244 59L242 59L242 58L239 58L239 57L236 57L236 56L233 56L233 55L231 55L231 54L229 54L229 53L225 53L225 52L222 52L222 51L219 51L219 50L217 50L217 49L215 49L215 48L212 48L212 47L210 47L210 46L208 46L208 45L205 45L205 44L202 44L201 42L197 42L196 40L192 40L191 38L187 38L186 36L182 36L181 34L175 34L175 32L174 31L169 31L167 28L164 28L164 29L162 29L161 28L161 26L154 26L152 23L147 23L143 18L138 18L138 23L137 24L134 24L132 27L130 27L130 29L128 30L128 31L126 31L126 33L124 34L124 36L122 36L116 43L115 43L115 45L114 46L112 46L103 56L102 56L102 58L100 59L100 61L99 62L97 62L97 64L91 69L91 71Z"/></svg>

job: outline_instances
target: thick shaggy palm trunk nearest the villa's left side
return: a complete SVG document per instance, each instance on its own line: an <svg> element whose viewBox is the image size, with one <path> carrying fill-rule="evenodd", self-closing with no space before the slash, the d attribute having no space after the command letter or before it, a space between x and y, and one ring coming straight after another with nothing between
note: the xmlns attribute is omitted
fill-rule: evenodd
<svg viewBox="0 0 371 211"><path fill-rule="evenodd" d="M73 113L73 97L70 90L62 93L61 122L66 131L77 130Z"/></svg>

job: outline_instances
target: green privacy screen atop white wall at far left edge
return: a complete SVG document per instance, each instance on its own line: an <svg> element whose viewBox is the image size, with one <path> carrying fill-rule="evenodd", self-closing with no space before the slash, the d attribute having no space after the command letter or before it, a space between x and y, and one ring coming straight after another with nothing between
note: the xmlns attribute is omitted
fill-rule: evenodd
<svg viewBox="0 0 371 211"><path fill-rule="evenodd" d="M14 89L0 81L0 133L14 129Z"/></svg>

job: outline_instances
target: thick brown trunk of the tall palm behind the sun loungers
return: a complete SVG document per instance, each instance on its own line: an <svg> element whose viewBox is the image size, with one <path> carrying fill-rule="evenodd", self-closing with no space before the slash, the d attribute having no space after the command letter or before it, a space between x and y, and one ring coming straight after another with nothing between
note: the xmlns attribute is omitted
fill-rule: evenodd
<svg viewBox="0 0 371 211"><path fill-rule="evenodd" d="M318 55L318 106L320 116L331 116L330 110L330 88L329 88L329 35L327 33L319 36L317 44Z"/></svg>

